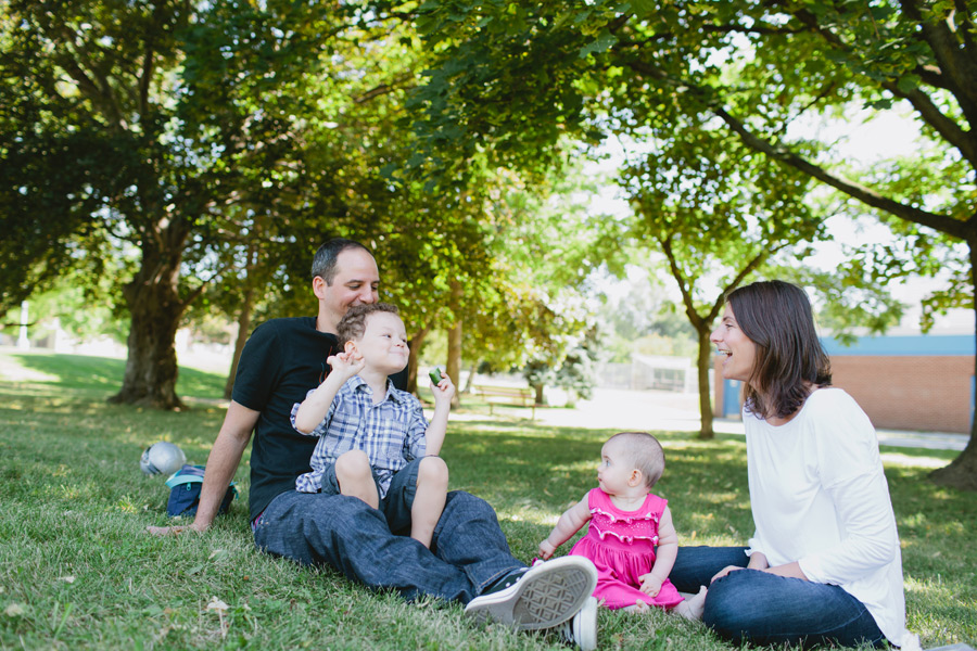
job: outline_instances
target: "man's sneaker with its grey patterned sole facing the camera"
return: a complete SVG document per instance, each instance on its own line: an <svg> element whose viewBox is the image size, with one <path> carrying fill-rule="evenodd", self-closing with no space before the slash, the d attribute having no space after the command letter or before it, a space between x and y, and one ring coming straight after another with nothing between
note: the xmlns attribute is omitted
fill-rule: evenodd
<svg viewBox="0 0 977 651"><path fill-rule="evenodd" d="M553 628L580 612L596 586L594 563L579 556L560 557L479 595L465 607L465 614L479 621L491 618L517 630Z"/></svg>

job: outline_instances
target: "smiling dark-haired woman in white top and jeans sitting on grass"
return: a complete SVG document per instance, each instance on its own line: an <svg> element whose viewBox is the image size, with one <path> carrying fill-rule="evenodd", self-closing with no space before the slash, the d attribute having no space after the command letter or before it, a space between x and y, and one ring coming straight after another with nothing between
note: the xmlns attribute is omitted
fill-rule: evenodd
<svg viewBox="0 0 977 651"><path fill-rule="evenodd" d="M703 621L754 644L917 648L875 430L832 388L804 292L757 282L726 297L711 336L723 376L745 383L749 548L681 548L671 574L708 585Z"/></svg>

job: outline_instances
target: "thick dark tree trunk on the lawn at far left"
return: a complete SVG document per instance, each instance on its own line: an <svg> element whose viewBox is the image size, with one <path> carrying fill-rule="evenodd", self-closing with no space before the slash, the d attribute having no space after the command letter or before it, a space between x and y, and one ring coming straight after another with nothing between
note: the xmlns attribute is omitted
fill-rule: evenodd
<svg viewBox="0 0 977 651"><path fill-rule="evenodd" d="M177 279L189 228L174 217L167 226L145 234L142 264L123 294L131 322L123 386L110 403L180 409L177 397L177 359L174 341L187 303L177 292ZM158 224L158 222L157 222Z"/></svg>

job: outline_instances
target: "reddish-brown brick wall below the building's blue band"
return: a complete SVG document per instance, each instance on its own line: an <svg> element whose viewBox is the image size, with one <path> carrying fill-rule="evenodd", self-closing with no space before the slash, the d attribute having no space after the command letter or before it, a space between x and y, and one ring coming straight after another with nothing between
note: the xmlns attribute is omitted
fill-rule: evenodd
<svg viewBox="0 0 977 651"><path fill-rule="evenodd" d="M973 357L845 355L832 373L876 427L970 431Z"/></svg>

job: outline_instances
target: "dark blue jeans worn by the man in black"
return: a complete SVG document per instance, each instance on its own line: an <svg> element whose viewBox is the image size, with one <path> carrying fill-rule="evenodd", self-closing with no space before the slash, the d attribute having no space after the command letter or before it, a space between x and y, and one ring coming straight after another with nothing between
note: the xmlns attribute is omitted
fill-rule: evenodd
<svg viewBox="0 0 977 651"><path fill-rule="evenodd" d="M453 490L431 549L391 533L383 513L361 499L321 493L282 493L254 528L265 552L303 565L326 563L372 589L393 588L407 600L431 595L468 603L507 572L524 567L509 552L495 511Z"/></svg>

